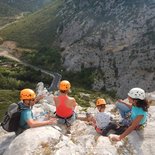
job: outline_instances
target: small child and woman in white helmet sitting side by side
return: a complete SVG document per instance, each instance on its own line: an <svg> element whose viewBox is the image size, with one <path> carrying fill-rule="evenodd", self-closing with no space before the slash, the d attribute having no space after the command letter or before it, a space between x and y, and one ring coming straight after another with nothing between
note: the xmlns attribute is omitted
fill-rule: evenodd
<svg viewBox="0 0 155 155"><path fill-rule="evenodd" d="M149 104L146 100L145 91L141 88L132 88L128 92L128 103L118 100L115 107L119 110L121 120L114 121L112 115L105 112L106 101L102 98L96 101L98 112L93 116L87 114L86 120L90 122L95 130L108 136L113 141L120 141L134 130L141 130L146 126ZM109 134L109 131L114 133Z"/></svg>

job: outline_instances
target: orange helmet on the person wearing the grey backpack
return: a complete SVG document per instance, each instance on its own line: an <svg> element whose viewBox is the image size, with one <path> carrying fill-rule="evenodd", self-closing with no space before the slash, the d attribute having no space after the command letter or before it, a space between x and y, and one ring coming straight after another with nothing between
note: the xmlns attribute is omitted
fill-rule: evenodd
<svg viewBox="0 0 155 155"><path fill-rule="evenodd" d="M36 97L36 94L32 89L23 89L20 92L20 99L21 100L34 99L35 97Z"/></svg>

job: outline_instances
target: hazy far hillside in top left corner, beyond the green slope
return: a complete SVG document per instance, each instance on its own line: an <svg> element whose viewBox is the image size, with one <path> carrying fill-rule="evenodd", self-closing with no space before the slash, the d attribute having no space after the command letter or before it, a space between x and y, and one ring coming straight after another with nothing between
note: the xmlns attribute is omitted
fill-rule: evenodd
<svg viewBox="0 0 155 155"><path fill-rule="evenodd" d="M44 7L52 0L1 0L0 29L11 22Z"/></svg>

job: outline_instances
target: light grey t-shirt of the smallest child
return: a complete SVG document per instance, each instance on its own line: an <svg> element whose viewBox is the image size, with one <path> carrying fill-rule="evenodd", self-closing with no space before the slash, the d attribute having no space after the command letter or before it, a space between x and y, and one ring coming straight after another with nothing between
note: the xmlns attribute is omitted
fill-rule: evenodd
<svg viewBox="0 0 155 155"><path fill-rule="evenodd" d="M95 115L96 125L103 129L111 122L112 115L109 112L98 112Z"/></svg>

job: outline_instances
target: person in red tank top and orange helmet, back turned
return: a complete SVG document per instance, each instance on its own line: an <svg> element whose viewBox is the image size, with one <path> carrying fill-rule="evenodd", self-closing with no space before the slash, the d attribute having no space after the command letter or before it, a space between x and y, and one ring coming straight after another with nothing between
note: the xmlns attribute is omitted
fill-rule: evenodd
<svg viewBox="0 0 155 155"><path fill-rule="evenodd" d="M67 80L63 80L59 84L59 95L54 96L56 106L56 117L59 124L66 124L70 127L76 120L76 109L78 104L75 98L69 96L71 84Z"/></svg>

